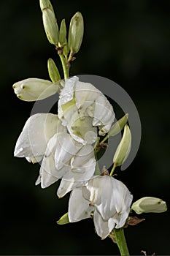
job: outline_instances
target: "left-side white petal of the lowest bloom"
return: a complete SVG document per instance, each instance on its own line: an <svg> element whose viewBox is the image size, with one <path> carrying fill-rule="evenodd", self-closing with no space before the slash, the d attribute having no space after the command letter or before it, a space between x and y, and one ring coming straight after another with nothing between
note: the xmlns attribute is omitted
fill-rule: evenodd
<svg viewBox="0 0 170 256"><path fill-rule="evenodd" d="M74 189L69 197L69 222L78 222L90 218L93 206L82 197L82 189Z"/></svg>

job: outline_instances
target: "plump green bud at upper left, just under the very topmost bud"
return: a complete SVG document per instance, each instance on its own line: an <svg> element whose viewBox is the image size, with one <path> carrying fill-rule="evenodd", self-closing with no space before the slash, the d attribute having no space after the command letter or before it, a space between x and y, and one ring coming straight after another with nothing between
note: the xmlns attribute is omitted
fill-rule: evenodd
<svg viewBox="0 0 170 256"><path fill-rule="evenodd" d="M58 24L54 12L46 8L42 12L42 21L47 39L53 45L58 45Z"/></svg>

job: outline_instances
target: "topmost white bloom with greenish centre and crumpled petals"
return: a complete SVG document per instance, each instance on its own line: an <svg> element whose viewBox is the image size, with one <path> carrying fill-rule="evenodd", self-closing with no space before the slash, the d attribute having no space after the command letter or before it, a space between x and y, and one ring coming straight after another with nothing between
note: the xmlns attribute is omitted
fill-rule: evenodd
<svg viewBox="0 0 170 256"><path fill-rule="evenodd" d="M115 118L112 105L104 94L90 83L83 83L74 76L66 80L58 101L58 117L62 124L67 127L72 137L80 143L93 143L96 140L96 127L99 128L99 135L109 132ZM85 138L78 134L78 127L84 126L89 132ZM78 127L76 124L79 124ZM90 139L89 139L90 138Z"/></svg>

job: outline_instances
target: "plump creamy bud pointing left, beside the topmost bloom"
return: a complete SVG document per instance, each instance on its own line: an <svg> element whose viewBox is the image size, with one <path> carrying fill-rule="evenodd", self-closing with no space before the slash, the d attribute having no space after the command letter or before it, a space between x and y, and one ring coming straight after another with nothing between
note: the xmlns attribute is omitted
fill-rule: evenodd
<svg viewBox="0 0 170 256"><path fill-rule="evenodd" d="M15 83L12 87L19 99L28 102L45 99L58 91L58 84L39 78L28 78Z"/></svg>

